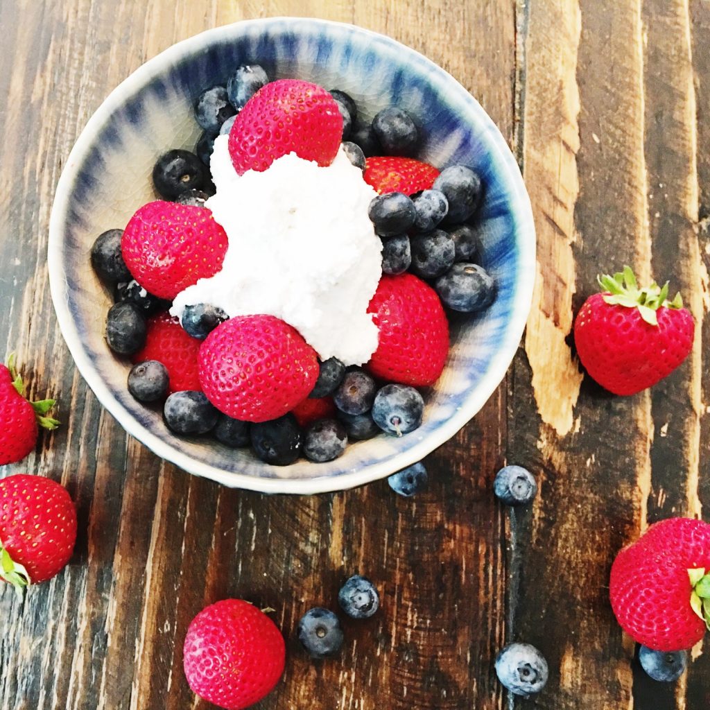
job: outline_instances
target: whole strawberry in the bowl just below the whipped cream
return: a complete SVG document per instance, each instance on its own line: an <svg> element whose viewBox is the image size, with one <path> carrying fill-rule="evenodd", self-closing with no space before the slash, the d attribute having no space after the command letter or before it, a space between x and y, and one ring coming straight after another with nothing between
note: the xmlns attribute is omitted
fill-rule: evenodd
<svg viewBox="0 0 710 710"><path fill-rule="evenodd" d="M315 350L288 323L247 315L219 324L197 358L202 391L220 412L266 422L290 412L315 386Z"/></svg>

